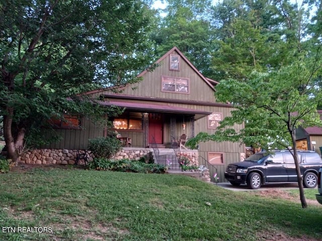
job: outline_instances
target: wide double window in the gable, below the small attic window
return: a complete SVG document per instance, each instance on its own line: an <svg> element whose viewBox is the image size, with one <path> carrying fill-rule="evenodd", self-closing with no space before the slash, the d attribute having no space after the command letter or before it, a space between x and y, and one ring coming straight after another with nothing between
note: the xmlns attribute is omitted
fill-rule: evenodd
<svg viewBox="0 0 322 241"><path fill-rule="evenodd" d="M167 92L189 93L189 79L163 76L162 90Z"/></svg>

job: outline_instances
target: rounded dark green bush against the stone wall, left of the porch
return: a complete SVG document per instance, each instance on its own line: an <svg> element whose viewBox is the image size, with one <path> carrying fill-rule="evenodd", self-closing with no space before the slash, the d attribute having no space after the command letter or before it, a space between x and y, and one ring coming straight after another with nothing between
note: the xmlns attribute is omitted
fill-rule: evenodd
<svg viewBox="0 0 322 241"><path fill-rule="evenodd" d="M115 136L99 137L89 140L89 150L96 158L109 159L122 147L122 143Z"/></svg>

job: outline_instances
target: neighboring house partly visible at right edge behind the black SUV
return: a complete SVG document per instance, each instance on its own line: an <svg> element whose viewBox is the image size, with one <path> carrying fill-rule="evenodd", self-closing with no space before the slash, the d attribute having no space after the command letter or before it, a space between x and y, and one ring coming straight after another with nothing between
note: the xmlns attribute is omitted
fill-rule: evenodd
<svg viewBox="0 0 322 241"><path fill-rule="evenodd" d="M322 119L322 110L317 110ZM316 151L321 155L322 148L322 127L299 127L295 131L296 149Z"/></svg>

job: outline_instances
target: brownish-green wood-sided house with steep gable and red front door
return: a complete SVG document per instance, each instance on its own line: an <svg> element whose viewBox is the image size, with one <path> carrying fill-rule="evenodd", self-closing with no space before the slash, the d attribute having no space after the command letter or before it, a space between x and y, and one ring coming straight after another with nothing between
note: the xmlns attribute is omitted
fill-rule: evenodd
<svg viewBox="0 0 322 241"><path fill-rule="evenodd" d="M153 71L139 74L142 81L112 90L86 93L100 97L105 106L125 107L121 116L111 119L122 137L131 139L132 148L173 148L175 140L186 134L188 138L199 132L213 134L219 121L230 115L230 104L218 103L214 86L218 83L204 77L193 64L174 47L156 61ZM57 123L62 140L51 144L51 149L87 149L88 140L104 137L106 130L82 118L77 128L76 116L69 116L72 125ZM242 126L235 126L238 131ZM199 156L216 166L220 181L224 181L227 164L245 157L245 145L231 142L206 142L199 145Z"/></svg>

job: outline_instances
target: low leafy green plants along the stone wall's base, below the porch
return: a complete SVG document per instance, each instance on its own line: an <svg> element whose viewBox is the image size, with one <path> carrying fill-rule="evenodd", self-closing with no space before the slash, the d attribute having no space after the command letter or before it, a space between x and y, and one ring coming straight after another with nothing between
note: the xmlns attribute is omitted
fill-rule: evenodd
<svg viewBox="0 0 322 241"><path fill-rule="evenodd" d="M109 160L106 158L94 158L89 163L90 169L100 171L116 171L116 172L135 172L135 173L165 173L167 167L154 163L145 163L129 159Z"/></svg>

